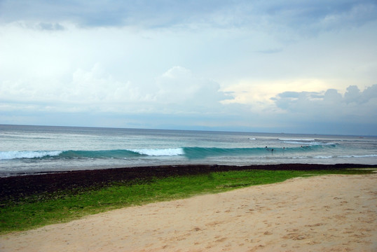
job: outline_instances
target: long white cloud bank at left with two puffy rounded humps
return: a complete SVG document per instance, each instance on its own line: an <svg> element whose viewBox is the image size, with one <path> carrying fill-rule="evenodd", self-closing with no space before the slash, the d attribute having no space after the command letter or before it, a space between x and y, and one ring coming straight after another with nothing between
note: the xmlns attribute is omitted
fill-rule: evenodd
<svg viewBox="0 0 377 252"><path fill-rule="evenodd" d="M205 113L203 109L218 110L219 102L225 98L218 83L196 78L181 66L172 67L152 81L142 89L142 85L129 80L116 80L103 66L95 64L88 71L74 71L69 83L39 85L39 80L4 81L0 83L0 99L13 106L38 106L39 110L46 111Z"/></svg>

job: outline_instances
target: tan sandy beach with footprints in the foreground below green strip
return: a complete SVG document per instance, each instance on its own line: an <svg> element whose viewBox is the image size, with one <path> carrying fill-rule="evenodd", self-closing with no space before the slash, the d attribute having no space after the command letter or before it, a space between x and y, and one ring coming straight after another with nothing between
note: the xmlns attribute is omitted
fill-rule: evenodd
<svg viewBox="0 0 377 252"><path fill-rule="evenodd" d="M0 251L377 251L377 174L297 178L0 237Z"/></svg>

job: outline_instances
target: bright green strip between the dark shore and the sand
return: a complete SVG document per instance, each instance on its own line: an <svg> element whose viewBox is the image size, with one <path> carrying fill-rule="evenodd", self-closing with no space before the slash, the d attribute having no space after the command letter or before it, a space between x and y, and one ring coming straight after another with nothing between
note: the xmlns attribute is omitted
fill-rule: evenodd
<svg viewBox="0 0 377 252"><path fill-rule="evenodd" d="M176 200L206 193L220 193L245 186L277 183L299 176L324 174L370 174L371 170L342 169L326 171L245 170L212 172L192 176L152 179L133 185L116 184L100 190L85 190L78 195L55 193L55 199L17 204L0 208L0 234L29 230L43 225L71 221L111 209ZM36 195L37 197L37 195Z"/></svg>

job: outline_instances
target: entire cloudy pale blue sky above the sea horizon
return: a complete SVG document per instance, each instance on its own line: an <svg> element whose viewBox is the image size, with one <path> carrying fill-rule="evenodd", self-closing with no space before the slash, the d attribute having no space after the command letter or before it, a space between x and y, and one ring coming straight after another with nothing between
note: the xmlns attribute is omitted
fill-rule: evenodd
<svg viewBox="0 0 377 252"><path fill-rule="evenodd" d="M377 135L377 1L0 0L0 124Z"/></svg>

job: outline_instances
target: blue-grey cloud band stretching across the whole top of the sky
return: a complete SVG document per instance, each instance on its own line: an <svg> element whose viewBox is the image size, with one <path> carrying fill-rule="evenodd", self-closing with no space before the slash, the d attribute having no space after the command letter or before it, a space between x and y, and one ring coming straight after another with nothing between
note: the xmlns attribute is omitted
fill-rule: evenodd
<svg viewBox="0 0 377 252"><path fill-rule="evenodd" d="M189 23L338 29L376 20L376 1L47 1L4 0L0 20L74 22L84 27L171 27Z"/></svg>

